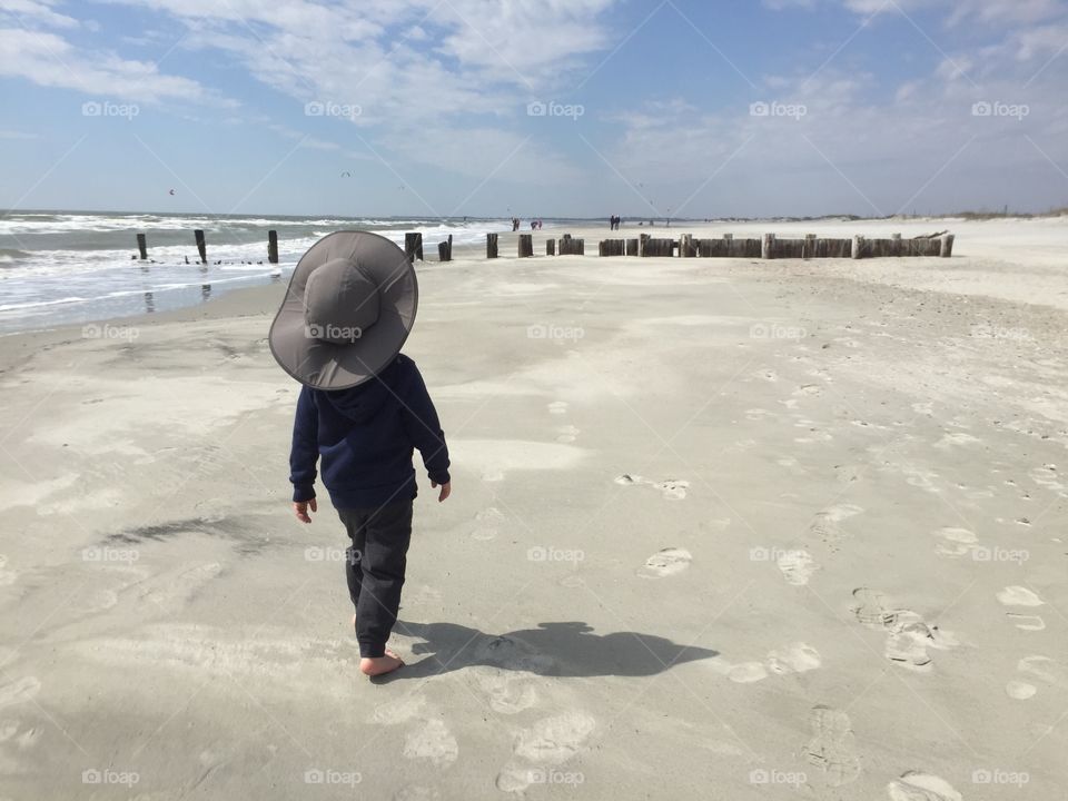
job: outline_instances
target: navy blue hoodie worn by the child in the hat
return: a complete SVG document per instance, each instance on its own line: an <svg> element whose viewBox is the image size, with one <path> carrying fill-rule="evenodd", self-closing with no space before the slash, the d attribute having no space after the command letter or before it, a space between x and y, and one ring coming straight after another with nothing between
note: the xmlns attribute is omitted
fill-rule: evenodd
<svg viewBox="0 0 1068 801"><path fill-rule="evenodd" d="M376 507L416 495L413 448L432 482L447 484L448 448L415 362L400 354L350 389L300 389L293 424L293 500L315 497L315 465L336 508Z"/></svg>

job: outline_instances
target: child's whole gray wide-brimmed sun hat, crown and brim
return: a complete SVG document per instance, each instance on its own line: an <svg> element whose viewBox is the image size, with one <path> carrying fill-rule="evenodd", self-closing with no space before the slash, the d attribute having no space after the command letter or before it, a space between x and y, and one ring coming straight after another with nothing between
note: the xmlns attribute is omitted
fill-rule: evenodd
<svg viewBox="0 0 1068 801"><path fill-rule="evenodd" d="M297 263L270 325L270 352L314 389L354 387L400 353L418 305L404 250L377 234L336 231Z"/></svg>

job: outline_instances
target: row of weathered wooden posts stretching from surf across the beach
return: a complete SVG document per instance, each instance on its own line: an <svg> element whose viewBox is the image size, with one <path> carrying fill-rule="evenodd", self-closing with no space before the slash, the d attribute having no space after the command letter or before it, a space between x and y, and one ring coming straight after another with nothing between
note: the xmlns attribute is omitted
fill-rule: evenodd
<svg viewBox="0 0 1068 801"><path fill-rule="evenodd" d="M207 241L199 228L192 233L200 261L208 263ZM137 250L141 260L148 258L148 238L137 235ZM412 261L423 260L423 235L404 235L404 253ZM497 258L497 235L486 234L486 258ZM545 241L545 255L583 256L586 253L584 239L575 239L564 234L558 240ZM534 236L520 234L518 256L534 255ZM774 234L764 234L761 239L735 239L724 234L722 239L694 239L683 234L679 239L655 238L642 234L631 239L602 239L597 245L599 256L680 256L682 258L864 258L872 256L941 256L953 255L953 235L940 234L902 239L894 234L889 239L868 239L854 236L852 239L821 239L809 234L803 239L779 239ZM437 257L442 261L453 259L453 235L437 244ZM267 231L267 260L278 264L278 231Z"/></svg>

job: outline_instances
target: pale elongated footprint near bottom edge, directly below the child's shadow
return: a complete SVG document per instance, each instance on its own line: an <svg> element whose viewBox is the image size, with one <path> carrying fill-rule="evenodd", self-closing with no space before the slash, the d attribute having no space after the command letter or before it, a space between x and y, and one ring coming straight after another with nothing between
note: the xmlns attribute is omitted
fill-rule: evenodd
<svg viewBox="0 0 1068 801"><path fill-rule="evenodd" d="M596 729L596 721L584 712L565 712L537 721L516 734L512 759L497 774L497 789L522 792L544 781L546 770L576 756Z"/></svg>

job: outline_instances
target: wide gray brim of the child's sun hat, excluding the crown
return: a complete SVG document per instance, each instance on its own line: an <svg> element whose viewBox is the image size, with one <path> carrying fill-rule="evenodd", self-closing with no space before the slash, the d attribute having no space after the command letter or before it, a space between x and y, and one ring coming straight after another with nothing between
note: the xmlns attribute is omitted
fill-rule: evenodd
<svg viewBox="0 0 1068 801"><path fill-rule="evenodd" d="M308 276L336 258L352 259L378 285L378 320L345 345L316 339L305 329ZM373 378L400 353L418 305L415 268L404 250L369 231L335 231L300 257L267 339L281 368L301 384L346 389Z"/></svg>

